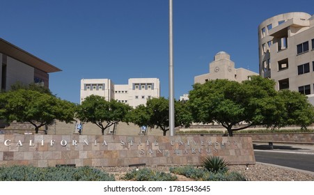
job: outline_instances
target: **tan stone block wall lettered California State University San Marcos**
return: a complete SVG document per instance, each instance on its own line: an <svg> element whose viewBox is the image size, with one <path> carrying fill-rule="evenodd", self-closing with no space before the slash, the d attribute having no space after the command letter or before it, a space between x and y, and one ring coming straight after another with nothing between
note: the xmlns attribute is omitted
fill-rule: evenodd
<svg viewBox="0 0 314 195"><path fill-rule="evenodd" d="M0 135L0 164L6 165L199 165L208 155L255 164L251 137Z"/></svg>

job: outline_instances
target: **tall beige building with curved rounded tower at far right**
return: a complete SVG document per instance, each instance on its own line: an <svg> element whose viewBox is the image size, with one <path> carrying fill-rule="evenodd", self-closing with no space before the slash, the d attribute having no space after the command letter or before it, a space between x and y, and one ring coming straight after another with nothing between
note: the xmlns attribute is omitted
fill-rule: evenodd
<svg viewBox="0 0 314 195"><path fill-rule="evenodd" d="M258 26L260 76L276 81L276 90L308 95L314 104L314 15L284 13Z"/></svg>

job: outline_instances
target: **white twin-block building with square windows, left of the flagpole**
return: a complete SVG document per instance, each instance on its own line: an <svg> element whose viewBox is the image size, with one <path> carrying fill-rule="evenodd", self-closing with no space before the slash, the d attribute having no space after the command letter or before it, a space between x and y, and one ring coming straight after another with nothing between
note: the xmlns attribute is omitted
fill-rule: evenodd
<svg viewBox="0 0 314 195"><path fill-rule="evenodd" d="M146 104L150 98L160 97L160 84L157 78L132 78L128 84L113 84L111 79L81 79L83 102L89 95L100 95L105 100L117 100L136 107Z"/></svg>

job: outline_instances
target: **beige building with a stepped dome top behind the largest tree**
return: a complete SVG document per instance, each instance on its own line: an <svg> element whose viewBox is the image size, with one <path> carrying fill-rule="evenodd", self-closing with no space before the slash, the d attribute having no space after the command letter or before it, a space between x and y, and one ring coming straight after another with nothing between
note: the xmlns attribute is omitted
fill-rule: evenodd
<svg viewBox="0 0 314 195"><path fill-rule="evenodd" d="M214 61L210 63L210 72L194 77L194 84L203 84L212 79L228 79L230 81L244 81L251 75L258 75L256 72L244 68L235 68L235 63L230 60L230 55L226 52L219 52L214 56Z"/></svg>

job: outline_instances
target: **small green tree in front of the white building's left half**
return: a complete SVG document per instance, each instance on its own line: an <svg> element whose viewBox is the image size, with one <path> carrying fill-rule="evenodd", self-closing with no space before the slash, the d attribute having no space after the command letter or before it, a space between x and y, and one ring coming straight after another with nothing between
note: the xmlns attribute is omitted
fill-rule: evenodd
<svg viewBox="0 0 314 195"><path fill-rule="evenodd" d="M77 107L77 118L86 123L94 123L100 127L103 135L108 127L117 125L120 121L128 122L127 116L131 110L132 107L127 104L90 95Z"/></svg>

